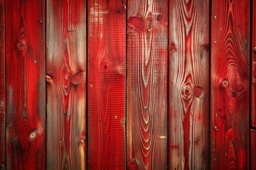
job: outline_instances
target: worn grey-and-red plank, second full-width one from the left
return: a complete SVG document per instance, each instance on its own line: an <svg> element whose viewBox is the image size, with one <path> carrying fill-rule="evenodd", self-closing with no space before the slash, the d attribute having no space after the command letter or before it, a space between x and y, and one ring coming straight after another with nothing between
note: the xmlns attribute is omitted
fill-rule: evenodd
<svg viewBox="0 0 256 170"><path fill-rule="evenodd" d="M47 1L47 169L87 167L86 30L86 1Z"/></svg>

